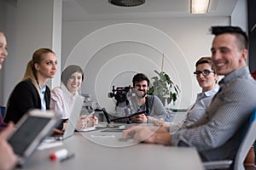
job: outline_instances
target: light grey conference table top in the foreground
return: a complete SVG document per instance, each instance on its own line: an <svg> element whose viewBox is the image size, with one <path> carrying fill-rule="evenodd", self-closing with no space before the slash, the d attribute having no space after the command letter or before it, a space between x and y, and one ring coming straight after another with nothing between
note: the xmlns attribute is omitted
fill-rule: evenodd
<svg viewBox="0 0 256 170"><path fill-rule="evenodd" d="M63 140L61 146L36 150L22 168L26 170L203 169L195 148L137 143L132 139L122 139L122 132L119 130L103 131L104 129L77 132ZM49 159L51 153L63 148L74 153L75 156L62 162Z"/></svg>

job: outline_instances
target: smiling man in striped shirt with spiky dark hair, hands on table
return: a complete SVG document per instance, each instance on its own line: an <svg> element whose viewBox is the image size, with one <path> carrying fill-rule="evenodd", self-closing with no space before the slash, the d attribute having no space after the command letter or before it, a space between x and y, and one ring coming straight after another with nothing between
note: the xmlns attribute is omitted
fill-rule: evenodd
<svg viewBox="0 0 256 170"><path fill-rule="evenodd" d="M233 159L256 105L256 82L247 67L247 34L236 26L212 26L212 62L224 78L204 116L171 134L164 127L131 127L124 138L154 144L193 146L202 161Z"/></svg>

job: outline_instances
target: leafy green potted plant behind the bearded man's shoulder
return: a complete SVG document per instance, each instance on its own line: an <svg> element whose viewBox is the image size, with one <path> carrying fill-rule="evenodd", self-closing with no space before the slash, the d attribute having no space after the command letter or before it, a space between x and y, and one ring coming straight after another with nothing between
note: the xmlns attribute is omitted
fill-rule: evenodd
<svg viewBox="0 0 256 170"><path fill-rule="evenodd" d="M165 106L171 102L173 102L174 105L180 92L177 84L172 82L171 78L168 74L166 74L165 71L154 72L158 75L158 77L151 78L153 79L153 82L152 87L150 87L148 90L148 94L159 97Z"/></svg>

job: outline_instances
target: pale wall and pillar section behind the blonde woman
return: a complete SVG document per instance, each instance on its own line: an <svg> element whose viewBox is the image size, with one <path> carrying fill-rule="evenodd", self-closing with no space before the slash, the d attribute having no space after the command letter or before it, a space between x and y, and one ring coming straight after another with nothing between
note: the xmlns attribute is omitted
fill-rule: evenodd
<svg viewBox="0 0 256 170"><path fill-rule="evenodd" d="M15 5L0 1L4 8L3 27L9 47L9 56L1 71L3 98L0 105L6 105L9 94L22 79L26 64L36 49L51 48L61 61L62 0L20 0ZM59 85L60 71L56 77L48 84L54 84L53 87Z"/></svg>

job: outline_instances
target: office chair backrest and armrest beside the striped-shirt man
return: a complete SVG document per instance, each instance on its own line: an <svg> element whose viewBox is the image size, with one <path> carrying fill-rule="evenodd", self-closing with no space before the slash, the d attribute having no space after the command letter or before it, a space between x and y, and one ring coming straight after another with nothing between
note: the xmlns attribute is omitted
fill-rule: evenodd
<svg viewBox="0 0 256 170"><path fill-rule="evenodd" d="M248 151L252 147L256 139L256 108L250 117L247 127L241 137L241 144L239 144L234 163L232 160L224 161L206 161L203 162L205 169L218 169L218 168L229 168L231 165L234 170L245 170L243 161L245 160ZM232 164L233 163L233 164Z"/></svg>

